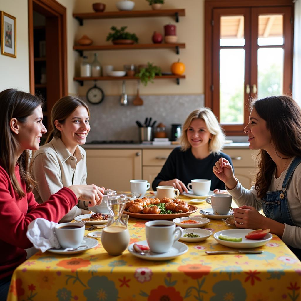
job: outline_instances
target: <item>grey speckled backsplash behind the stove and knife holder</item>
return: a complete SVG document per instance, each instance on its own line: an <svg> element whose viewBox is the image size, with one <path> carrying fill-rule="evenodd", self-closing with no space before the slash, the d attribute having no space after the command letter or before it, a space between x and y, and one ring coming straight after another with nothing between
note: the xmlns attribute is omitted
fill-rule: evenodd
<svg viewBox="0 0 301 301"><path fill-rule="evenodd" d="M183 124L193 110L204 106L204 95L140 95L142 106L132 105L135 95L128 96L129 105L119 104L120 96L106 96L101 104L88 103L91 111L91 131L87 142L92 140L134 140L138 141L138 126L145 117L152 117L166 125L170 138L171 124ZM85 100L85 99L84 99Z"/></svg>

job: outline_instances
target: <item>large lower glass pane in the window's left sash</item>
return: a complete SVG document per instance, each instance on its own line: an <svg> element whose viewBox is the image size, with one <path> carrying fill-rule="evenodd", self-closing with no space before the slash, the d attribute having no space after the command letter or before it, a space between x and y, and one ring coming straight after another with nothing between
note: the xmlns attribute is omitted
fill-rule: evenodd
<svg viewBox="0 0 301 301"><path fill-rule="evenodd" d="M219 122L244 124L244 49L219 51Z"/></svg>

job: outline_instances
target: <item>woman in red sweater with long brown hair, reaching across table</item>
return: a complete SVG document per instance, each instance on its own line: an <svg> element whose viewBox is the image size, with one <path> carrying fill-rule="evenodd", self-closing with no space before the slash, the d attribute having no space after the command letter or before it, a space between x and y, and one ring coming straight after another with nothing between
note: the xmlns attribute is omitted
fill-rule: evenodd
<svg viewBox="0 0 301 301"><path fill-rule="evenodd" d="M36 218L58 222L78 202L78 198L101 203L104 190L95 185L62 188L43 204L31 192L36 182L29 173L28 150L38 150L46 133L42 124L42 101L26 92L0 92L0 300L6 300L11 275L26 259L32 247L27 227Z"/></svg>

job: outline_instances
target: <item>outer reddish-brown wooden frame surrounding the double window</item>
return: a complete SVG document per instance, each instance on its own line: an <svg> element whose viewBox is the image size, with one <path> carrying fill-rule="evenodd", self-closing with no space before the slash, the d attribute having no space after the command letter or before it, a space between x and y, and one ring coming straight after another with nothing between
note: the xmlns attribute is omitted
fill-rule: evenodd
<svg viewBox="0 0 301 301"><path fill-rule="evenodd" d="M228 0L205 0L205 106L210 107L213 112L217 115L219 118L219 103L214 103L213 101L213 96L214 93L219 93L214 91L216 90L216 87L213 87L213 77L214 76L219 76L219 74L213 74L213 57L215 57L216 54L213 53L213 9L216 8L244 8L244 7L257 7L262 8L262 7L281 7L281 6L290 6L292 9L292 16L293 16L293 9L294 9L294 4L293 0L233 0L233 1L228 1ZM284 27L285 30L285 27ZM253 31L254 32L254 31ZM285 35L285 33L284 33ZM288 37L289 41L286 41L287 43L290 43L293 45L293 30L291 31L291 36ZM253 46L252 51L255 46ZM291 52L290 52L290 58L288 58L288 52L286 53L286 56L284 57L284 63L289 65L289 70L290 74L284 73L284 92L287 93L287 89L285 88L286 83L290 81L292 82L292 77L293 77L293 47L291 47ZM252 54L253 55L253 54ZM257 52L256 52L257 55ZM287 66L287 65L286 65ZM250 66L252 68L252 66ZM254 68L254 67L253 67ZM252 80L252 79L251 79ZM291 92L291 87L290 87L290 92ZM251 97L254 97L255 95L250 94ZM246 101L245 101L246 105ZM246 108L247 109L247 108ZM226 134L227 135L242 135L243 134L243 129L246 125L246 122L248 120L248 112L247 110L244 113L244 119L245 119L245 124L241 126L232 126L232 125L223 125ZM247 117L247 119L246 119Z"/></svg>

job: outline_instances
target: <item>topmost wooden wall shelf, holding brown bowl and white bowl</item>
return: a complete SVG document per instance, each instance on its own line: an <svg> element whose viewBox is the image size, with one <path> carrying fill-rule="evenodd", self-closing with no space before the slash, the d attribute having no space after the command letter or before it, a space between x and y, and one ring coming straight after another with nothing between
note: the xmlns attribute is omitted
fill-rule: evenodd
<svg viewBox="0 0 301 301"><path fill-rule="evenodd" d="M158 9L147 11L107 11L93 13L73 13L73 17L83 25L83 20L111 19L111 18L141 18L141 17L175 17L179 22L179 16L185 16L185 9Z"/></svg>

